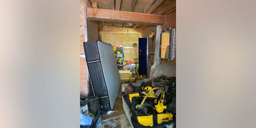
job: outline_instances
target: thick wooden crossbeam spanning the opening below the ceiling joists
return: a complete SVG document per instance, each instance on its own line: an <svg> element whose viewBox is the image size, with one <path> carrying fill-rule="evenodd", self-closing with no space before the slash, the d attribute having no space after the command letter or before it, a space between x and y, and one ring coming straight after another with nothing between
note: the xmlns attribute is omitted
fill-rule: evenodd
<svg viewBox="0 0 256 128"><path fill-rule="evenodd" d="M145 14L136 12L124 12L98 8L88 8L87 18L89 20L107 22L126 22L132 24L163 25L165 16L156 14Z"/></svg>

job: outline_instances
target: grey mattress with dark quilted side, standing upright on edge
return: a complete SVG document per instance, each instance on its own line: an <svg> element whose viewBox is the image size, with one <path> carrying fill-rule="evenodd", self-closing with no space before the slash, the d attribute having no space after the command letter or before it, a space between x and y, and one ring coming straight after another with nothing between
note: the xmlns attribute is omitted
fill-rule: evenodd
<svg viewBox="0 0 256 128"><path fill-rule="evenodd" d="M113 110L120 76L113 46L99 40L84 42L84 52L94 95L100 96L102 114Z"/></svg>

